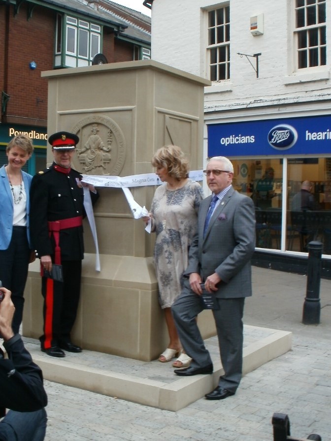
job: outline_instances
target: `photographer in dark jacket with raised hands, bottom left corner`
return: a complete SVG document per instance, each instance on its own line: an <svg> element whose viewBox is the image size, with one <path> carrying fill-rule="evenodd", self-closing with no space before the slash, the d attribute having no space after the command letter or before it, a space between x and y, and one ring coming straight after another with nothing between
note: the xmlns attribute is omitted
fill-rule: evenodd
<svg viewBox="0 0 331 441"><path fill-rule="evenodd" d="M0 287L0 338L8 356L0 349L0 441L42 441L47 395L40 368L12 329L14 311L11 291Z"/></svg>

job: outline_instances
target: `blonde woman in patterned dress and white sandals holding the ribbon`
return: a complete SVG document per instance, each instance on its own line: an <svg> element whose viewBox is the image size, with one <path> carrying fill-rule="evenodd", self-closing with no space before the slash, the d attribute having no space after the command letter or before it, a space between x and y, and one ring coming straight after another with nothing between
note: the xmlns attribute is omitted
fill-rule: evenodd
<svg viewBox="0 0 331 441"><path fill-rule="evenodd" d="M160 181L166 183L156 189L149 217L143 218L146 223L152 220L152 231L156 233L154 262L159 301L169 334L169 345L159 361L171 361L180 353L173 366L183 368L189 366L191 358L181 352L171 305L181 292L180 278L188 264L188 251L197 229L203 192L197 182L188 178L188 161L179 147L161 147L151 162Z"/></svg>

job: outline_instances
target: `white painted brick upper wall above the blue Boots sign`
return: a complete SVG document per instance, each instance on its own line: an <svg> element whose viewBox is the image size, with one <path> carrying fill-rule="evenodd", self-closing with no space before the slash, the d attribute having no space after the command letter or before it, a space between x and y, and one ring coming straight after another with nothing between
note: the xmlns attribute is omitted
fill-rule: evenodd
<svg viewBox="0 0 331 441"><path fill-rule="evenodd" d="M155 0L152 8L152 58L161 63L208 77L206 65L207 10L217 5L208 0ZM253 36L250 17L264 14L264 34ZM294 0L230 0L231 79L214 83L205 92L205 110L287 105L328 98L330 63L294 70ZM327 1L327 18L331 1ZM328 23L327 23L328 25ZM327 28L331 60L331 26ZM245 57L259 57L259 78ZM255 59L251 58L255 66Z"/></svg>

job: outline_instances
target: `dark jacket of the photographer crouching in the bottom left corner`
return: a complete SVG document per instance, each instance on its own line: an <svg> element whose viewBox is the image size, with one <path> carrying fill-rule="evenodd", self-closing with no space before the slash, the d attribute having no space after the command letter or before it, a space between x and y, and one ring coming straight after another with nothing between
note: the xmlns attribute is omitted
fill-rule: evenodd
<svg viewBox="0 0 331 441"><path fill-rule="evenodd" d="M8 359L0 352L0 417L5 409L33 412L47 405L40 368L33 363L19 334L3 344Z"/></svg>

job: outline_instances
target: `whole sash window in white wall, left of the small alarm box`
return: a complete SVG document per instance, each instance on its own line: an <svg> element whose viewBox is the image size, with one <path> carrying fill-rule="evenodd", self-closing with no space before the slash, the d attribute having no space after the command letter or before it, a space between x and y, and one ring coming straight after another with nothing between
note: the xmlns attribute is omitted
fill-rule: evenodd
<svg viewBox="0 0 331 441"><path fill-rule="evenodd" d="M230 6L208 12L209 79L222 81L230 78Z"/></svg>

